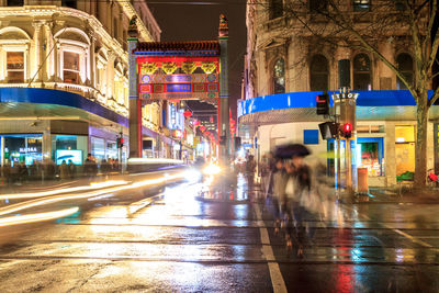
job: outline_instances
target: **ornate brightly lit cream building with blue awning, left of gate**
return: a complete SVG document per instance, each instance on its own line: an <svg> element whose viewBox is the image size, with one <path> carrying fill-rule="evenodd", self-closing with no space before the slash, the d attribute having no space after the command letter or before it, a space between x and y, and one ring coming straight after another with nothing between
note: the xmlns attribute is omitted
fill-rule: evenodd
<svg viewBox="0 0 439 293"><path fill-rule="evenodd" d="M1 164L57 159L76 150L98 160L128 154L128 22L159 41L145 1L0 1ZM157 138L161 105L143 109L146 137ZM65 153L67 154L67 153ZM77 158L80 156L81 158Z"/></svg>

